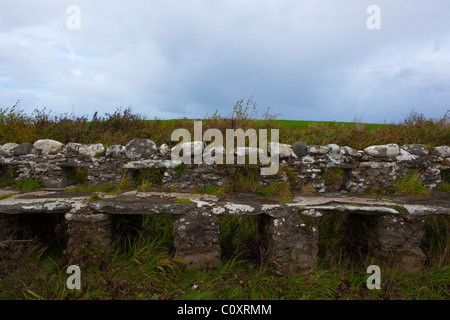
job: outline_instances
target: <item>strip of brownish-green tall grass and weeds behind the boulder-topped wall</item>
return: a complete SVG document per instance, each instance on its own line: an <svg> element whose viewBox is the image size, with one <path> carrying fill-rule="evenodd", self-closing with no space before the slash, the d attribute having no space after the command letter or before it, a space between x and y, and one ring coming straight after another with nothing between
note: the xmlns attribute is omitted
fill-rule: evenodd
<svg viewBox="0 0 450 320"><path fill-rule="evenodd" d="M225 134L226 129L242 128L279 129L280 142L293 144L302 140L307 144L347 145L362 149L369 145L397 143L399 145L421 143L428 147L447 144L450 141L448 113L441 119L426 119L412 111L398 124L364 124L359 122L292 122L276 120L266 114L257 116L256 103L252 98L239 100L229 115L217 111L203 119L203 131L217 128ZM26 114L18 104L0 108L0 144L7 142L34 142L50 138L62 143L103 143L125 145L134 138L149 138L157 144L168 143L174 129L185 128L193 134L193 121L145 120L144 115L133 113L130 107L117 108L112 114L92 119L74 114L54 115L52 112L35 110Z"/></svg>

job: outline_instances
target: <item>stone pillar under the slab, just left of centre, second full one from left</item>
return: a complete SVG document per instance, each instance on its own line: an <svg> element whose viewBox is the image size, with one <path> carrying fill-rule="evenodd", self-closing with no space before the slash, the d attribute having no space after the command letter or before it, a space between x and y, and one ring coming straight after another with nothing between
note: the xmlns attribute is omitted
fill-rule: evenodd
<svg viewBox="0 0 450 320"><path fill-rule="evenodd" d="M216 268L220 264L220 216L195 208L176 216L175 257L187 261L187 268Z"/></svg>

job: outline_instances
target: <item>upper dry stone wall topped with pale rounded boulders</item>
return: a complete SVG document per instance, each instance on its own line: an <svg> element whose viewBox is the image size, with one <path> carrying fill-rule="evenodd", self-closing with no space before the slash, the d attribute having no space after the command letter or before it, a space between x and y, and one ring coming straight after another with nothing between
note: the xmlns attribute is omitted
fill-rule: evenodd
<svg viewBox="0 0 450 320"><path fill-rule="evenodd" d="M246 154L254 152L252 148L244 149ZM40 178L44 187L59 188L74 183L70 174L77 167L86 168L87 183L94 186L116 184L133 170L155 169L164 186L184 190L222 186L230 177L230 167L242 166L187 164L177 168L180 162L172 161L170 155L166 144L157 147L150 139L134 139L126 146L107 148L102 144L63 145L48 139L33 145L7 143L0 146L0 174L7 176L14 168L16 180L32 176ZM414 169L421 173L421 182L433 189L441 182L442 170L450 168L450 147L428 150L419 144L387 144L354 150L335 144L308 146L297 142L293 146L280 144L279 159L278 174L259 177L263 185L290 181L294 182L294 191L309 185L317 192L363 193L371 188L386 190L395 178Z"/></svg>

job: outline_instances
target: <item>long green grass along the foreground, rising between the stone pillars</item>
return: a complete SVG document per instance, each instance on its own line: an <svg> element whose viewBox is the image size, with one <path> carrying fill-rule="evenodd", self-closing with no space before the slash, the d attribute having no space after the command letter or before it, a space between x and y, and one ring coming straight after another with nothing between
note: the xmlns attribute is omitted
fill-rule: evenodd
<svg viewBox="0 0 450 320"><path fill-rule="evenodd" d="M366 287L364 264L349 264L342 252L340 216L321 222L320 262L309 274L276 275L255 264L256 217L222 217L223 260L217 269L187 270L173 256L171 217L148 217L145 229L125 236L116 249L93 251L101 263L81 269L81 289L68 290L69 262L46 246L33 246L20 258L2 258L0 299L81 300L447 300L449 224L444 217L426 223L428 262L421 273L382 267L381 290ZM227 247L228 246L228 247ZM246 254L247 253L247 254ZM257 257L256 257L257 258Z"/></svg>

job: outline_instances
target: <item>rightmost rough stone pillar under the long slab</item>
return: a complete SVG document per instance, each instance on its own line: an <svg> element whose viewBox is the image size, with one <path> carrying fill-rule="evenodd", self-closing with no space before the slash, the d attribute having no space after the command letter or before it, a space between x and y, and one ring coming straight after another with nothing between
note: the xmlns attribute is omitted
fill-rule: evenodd
<svg viewBox="0 0 450 320"><path fill-rule="evenodd" d="M398 271L420 271L425 261L420 248L424 222L424 217L405 214L379 217L378 256Z"/></svg>

